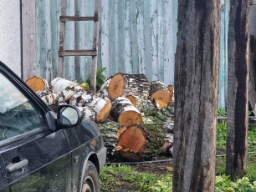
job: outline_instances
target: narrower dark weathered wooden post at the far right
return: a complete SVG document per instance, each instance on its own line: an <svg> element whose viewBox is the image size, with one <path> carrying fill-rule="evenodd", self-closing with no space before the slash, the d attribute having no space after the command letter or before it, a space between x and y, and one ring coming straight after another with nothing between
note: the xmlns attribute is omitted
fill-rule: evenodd
<svg viewBox="0 0 256 192"><path fill-rule="evenodd" d="M243 177L248 137L248 19L250 1L233 1L228 27L226 174Z"/></svg>

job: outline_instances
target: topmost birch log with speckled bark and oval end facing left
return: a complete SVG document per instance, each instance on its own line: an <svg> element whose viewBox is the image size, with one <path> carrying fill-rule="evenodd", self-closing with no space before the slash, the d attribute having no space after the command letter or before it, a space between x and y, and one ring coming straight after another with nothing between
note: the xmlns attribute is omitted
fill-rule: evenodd
<svg viewBox="0 0 256 192"><path fill-rule="evenodd" d="M110 100L130 94L148 98L149 88L144 74L116 73L110 80L108 95Z"/></svg>

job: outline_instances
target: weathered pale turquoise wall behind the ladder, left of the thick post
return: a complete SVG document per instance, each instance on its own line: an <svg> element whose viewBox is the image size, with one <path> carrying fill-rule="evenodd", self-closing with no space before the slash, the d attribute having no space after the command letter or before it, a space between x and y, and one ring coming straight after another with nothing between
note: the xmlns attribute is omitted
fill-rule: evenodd
<svg viewBox="0 0 256 192"><path fill-rule="evenodd" d="M67 2L67 15L94 14L94 0ZM57 74L60 3L35 1L36 62L32 64L34 75L47 80ZM106 68L106 77L119 72L144 73L149 81L174 83L177 0L101 0L100 12L98 68ZM89 49L92 35L93 22L69 22L65 48ZM25 58L23 63L28 65ZM90 64L90 57L65 57L64 78L85 80Z"/></svg>

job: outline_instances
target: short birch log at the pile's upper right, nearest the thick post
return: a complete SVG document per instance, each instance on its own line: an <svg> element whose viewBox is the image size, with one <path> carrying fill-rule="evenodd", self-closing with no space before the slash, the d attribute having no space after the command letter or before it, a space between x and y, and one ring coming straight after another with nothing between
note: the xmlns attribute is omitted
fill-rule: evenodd
<svg viewBox="0 0 256 192"><path fill-rule="evenodd" d="M170 104L172 102L171 93L168 88L166 88L165 83L161 81L152 81L150 83L149 97L151 100L161 100L166 104Z"/></svg>

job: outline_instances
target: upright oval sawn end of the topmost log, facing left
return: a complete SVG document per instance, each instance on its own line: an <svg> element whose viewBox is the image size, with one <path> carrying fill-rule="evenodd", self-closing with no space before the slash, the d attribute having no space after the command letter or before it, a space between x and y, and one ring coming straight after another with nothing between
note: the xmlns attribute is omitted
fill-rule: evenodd
<svg viewBox="0 0 256 192"><path fill-rule="evenodd" d="M124 78L121 74L116 74L110 81L108 94L110 100L118 98L124 91Z"/></svg>

